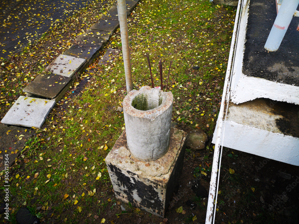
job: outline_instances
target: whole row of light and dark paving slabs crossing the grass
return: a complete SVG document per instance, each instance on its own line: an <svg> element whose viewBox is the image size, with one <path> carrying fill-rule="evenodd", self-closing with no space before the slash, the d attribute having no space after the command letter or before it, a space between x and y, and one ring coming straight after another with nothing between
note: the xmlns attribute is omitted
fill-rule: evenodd
<svg viewBox="0 0 299 224"><path fill-rule="evenodd" d="M129 16L138 1L126 1ZM76 76L91 65L112 33L119 27L116 2L86 33L80 35L68 50L60 54L46 69L29 83L2 124L41 128L51 109L73 85Z"/></svg>

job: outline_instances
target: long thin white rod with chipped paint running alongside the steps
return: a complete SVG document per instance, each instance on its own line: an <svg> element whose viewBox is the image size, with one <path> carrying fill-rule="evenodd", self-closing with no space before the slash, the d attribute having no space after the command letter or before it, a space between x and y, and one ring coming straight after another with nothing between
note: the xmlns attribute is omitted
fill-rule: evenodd
<svg viewBox="0 0 299 224"><path fill-rule="evenodd" d="M211 181L210 181L210 191L209 191L209 197L208 197L208 208L207 208L207 214L206 214L206 220L205 224L211 224L213 222L213 204L216 196L216 187L217 187L217 170L218 170L218 164L219 164L219 151L220 151L220 142L221 142L221 135L222 135L222 126L223 126L223 119L224 115L226 113L226 109L228 106L228 100L230 96L230 82L231 82L231 66L233 61L233 55L234 55L234 47L235 47L235 40L237 37L237 27L238 27L238 20L239 20L239 12L241 8L241 2L242 0L239 0L238 7L237 7L237 13L235 18L235 26L233 30L233 35L231 38L231 49L228 57L228 67L226 70L225 75L225 82L224 82L224 88L222 93L222 101L221 101L221 107L219 111L219 123L218 128L216 131L216 141L215 141L215 149L214 149L214 157L213 157L213 165L212 165L212 172L211 172ZM225 105L227 103L227 105ZM216 202L215 202L216 204Z"/></svg>

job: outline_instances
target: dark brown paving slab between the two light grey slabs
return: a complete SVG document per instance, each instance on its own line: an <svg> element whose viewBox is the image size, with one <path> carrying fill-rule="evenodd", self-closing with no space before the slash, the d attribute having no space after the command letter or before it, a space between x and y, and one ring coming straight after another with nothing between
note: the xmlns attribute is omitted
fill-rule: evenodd
<svg viewBox="0 0 299 224"><path fill-rule="evenodd" d="M70 81L71 78L69 77L64 77L53 73L42 73L37 76L33 82L30 82L23 89L23 92L53 99Z"/></svg>

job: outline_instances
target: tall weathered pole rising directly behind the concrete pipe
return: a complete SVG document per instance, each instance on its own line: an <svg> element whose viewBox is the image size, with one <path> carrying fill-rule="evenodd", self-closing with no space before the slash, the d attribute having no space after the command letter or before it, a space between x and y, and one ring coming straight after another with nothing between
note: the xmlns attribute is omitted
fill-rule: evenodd
<svg viewBox="0 0 299 224"><path fill-rule="evenodd" d="M120 26L121 45L123 49L123 65L125 67L126 88L127 93L133 89L131 61L130 61L130 47L128 36L127 10L126 0L117 0L118 20Z"/></svg>

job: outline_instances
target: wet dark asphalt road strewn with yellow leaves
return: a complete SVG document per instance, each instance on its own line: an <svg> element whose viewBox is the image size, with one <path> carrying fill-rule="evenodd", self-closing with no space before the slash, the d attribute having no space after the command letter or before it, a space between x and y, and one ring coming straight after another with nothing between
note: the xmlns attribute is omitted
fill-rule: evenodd
<svg viewBox="0 0 299 224"><path fill-rule="evenodd" d="M59 19L64 21L92 0L1 0L0 58L39 38Z"/></svg>

